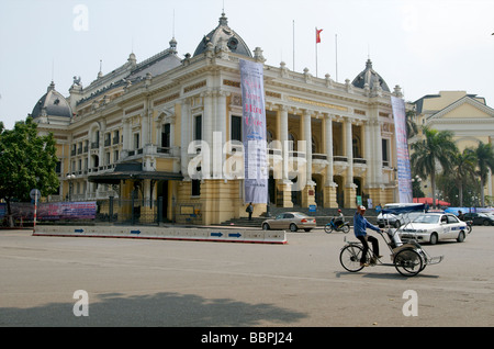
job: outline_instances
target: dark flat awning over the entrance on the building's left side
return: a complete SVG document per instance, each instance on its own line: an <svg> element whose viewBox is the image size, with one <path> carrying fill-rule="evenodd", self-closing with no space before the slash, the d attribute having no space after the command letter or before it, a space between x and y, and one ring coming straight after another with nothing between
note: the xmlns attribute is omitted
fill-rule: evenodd
<svg viewBox="0 0 494 349"><path fill-rule="evenodd" d="M94 173L88 177L90 182L119 184L121 180L183 180L182 173L167 171L143 171L141 162L117 164L112 172Z"/></svg>

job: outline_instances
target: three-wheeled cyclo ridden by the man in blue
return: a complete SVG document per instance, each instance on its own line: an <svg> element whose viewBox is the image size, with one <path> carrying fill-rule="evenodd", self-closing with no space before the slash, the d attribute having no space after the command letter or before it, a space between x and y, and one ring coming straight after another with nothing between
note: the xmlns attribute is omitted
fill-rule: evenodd
<svg viewBox="0 0 494 349"><path fill-rule="evenodd" d="M383 210L383 213L392 213L402 215L405 221L407 214L411 212L425 212L424 204L411 205L406 207L393 207ZM392 263L385 263L381 259L373 257L372 248L369 247L367 254L367 263L370 267L386 266L394 267L396 270L405 277L414 277L425 269L428 264L437 264L442 261L444 256L430 257L425 249L414 239L401 240L400 230L409 223L409 219L405 225L400 228L388 228L386 233L380 233L384 239L386 246L390 248ZM341 248L339 254L339 261L341 266L351 272L361 270L360 259L363 252L363 247L360 241L347 241Z"/></svg>

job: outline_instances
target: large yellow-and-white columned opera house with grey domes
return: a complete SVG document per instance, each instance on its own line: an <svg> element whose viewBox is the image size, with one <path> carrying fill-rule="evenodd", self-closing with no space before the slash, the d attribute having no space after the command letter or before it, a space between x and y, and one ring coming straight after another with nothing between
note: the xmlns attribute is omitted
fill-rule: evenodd
<svg viewBox="0 0 494 349"><path fill-rule="evenodd" d="M183 59L172 38L167 49L141 63L131 53L89 86L74 77L67 98L52 82L32 112L38 132L57 140L60 188L47 200L113 198L115 215L137 206L141 216L178 223L217 224L247 215L244 179L213 173L214 166L198 161L207 157L199 156L204 149L197 146L204 140L211 153L218 146L220 164L235 156L223 146L243 140L240 59L266 60L222 14ZM391 95L402 97L401 89L390 91L370 60L356 71L353 80L340 83L308 69L291 71L284 63L263 65L271 206L355 207L358 199L396 200ZM292 142L283 150L287 140ZM300 173L283 160L289 156L305 160L300 190L292 190ZM191 176L191 161L201 178ZM130 200L132 206L122 204ZM254 215L266 210L256 204Z"/></svg>

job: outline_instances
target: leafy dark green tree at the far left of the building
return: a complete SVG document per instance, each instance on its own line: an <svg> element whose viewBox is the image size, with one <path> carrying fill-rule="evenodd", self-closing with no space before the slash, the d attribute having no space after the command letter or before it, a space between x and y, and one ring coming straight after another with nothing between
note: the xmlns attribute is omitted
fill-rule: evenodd
<svg viewBox="0 0 494 349"><path fill-rule="evenodd" d="M32 117L16 122L13 130L0 124L0 199L7 202L9 225L13 225L11 201L30 201L36 188L43 196L57 191L56 148L52 134L38 136Z"/></svg>

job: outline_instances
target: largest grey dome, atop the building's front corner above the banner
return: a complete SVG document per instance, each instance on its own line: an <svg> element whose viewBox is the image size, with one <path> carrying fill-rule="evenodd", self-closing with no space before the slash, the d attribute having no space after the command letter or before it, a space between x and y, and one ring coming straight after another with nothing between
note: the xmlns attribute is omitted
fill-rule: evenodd
<svg viewBox="0 0 494 349"><path fill-rule="evenodd" d="M225 13L222 13L222 16L220 18L220 23L216 26L216 29L211 31L207 35L205 35L201 40L198 47L195 48L194 57L204 53L209 43L212 43L213 47L216 47L220 40L226 42L226 46L228 46L231 52L247 57L252 57L252 54L250 53L250 49L247 47L246 43L242 40L242 37L237 33L235 33L235 31L233 31L228 26L228 20L225 16Z"/></svg>

